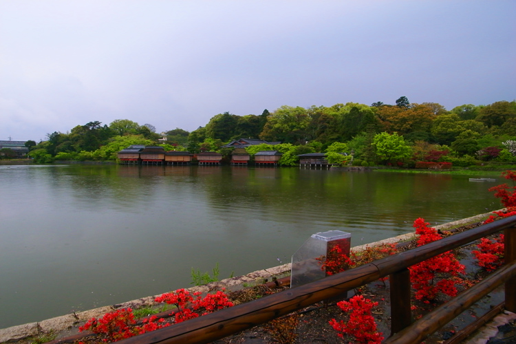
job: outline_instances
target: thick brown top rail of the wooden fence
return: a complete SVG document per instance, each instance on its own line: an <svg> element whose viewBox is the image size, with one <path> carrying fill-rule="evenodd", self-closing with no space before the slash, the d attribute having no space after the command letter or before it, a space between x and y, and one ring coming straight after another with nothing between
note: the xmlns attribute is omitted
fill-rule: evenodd
<svg viewBox="0 0 516 344"><path fill-rule="evenodd" d="M358 266L312 283L272 294L255 301L220 310L160 330L120 341L123 344L202 344L266 323L279 316L300 310L325 299L338 297L381 277L396 274L413 264L458 248L471 241L516 225L516 217L507 217L491 224L413 248L390 257ZM512 229L511 229L512 230ZM514 249L514 248L513 248ZM509 272L507 272L510 275ZM402 273L401 275L406 275ZM395 302L391 300L391 305ZM416 343L416 342L413 342Z"/></svg>

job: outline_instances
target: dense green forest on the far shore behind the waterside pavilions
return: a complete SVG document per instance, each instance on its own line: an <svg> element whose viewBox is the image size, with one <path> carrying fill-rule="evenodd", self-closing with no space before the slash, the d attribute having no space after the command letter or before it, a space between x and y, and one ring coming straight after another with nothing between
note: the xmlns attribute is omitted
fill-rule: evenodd
<svg viewBox="0 0 516 344"><path fill-rule="evenodd" d="M438 103L409 103L405 96L395 105L347 103L308 109L284 105L260 115L225 112L195 131L176 128L164 135L155 133L153 125L138 125L127 119L109 125L94 121L78 125L69 133L49 133L47 140L39 144L29 141L27 146L31 158L45 163L116 160L116 153L131 144L160 145L167 151L230 154L231 149L222 146L238 138L281 142L274 146L260 144L248 151L280 151L280 164L286 166L297 164L299 154L317 152L327 153L334 164L346 164L353 153L353 164L362 166L509 164L516 162L516 101L461 105L450 111Z"/></svg>

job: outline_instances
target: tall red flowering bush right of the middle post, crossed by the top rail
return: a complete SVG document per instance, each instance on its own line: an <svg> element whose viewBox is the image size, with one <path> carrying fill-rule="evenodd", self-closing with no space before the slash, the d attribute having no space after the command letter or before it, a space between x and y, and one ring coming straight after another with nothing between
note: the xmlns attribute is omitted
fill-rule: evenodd
<svg viewBox="0 0 516 344"><path fill-rule="evenodd" d="M420 235L418 246L441 239L436 228L418 218L414 221L416 234ZM464 266L455 258L453 252L444 252L409 268L412 286L416 289L416 299L430 303L439 293L454 297L457 294L456 284L460 283L459 275L464 273ZM436 281L439 275L447 278Z"/></svg>

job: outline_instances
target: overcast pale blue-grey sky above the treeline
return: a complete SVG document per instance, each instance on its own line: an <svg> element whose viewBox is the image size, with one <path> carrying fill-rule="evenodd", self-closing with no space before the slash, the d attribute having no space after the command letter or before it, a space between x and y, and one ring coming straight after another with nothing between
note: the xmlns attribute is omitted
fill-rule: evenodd
<svg viewBox="0 0 516 344"><path fill-rule="evenodd" d="M516 1L0 0L0 140L281 105L516 99Z"/></svg>

